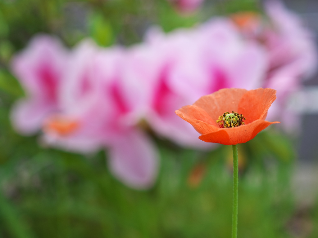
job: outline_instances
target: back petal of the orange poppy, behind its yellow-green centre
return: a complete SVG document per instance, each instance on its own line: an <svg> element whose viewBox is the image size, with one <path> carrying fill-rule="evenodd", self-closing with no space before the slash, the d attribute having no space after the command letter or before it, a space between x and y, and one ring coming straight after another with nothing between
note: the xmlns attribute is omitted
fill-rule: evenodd
<svg viewBox="0 0 318 238"><path fill-rule="evenodd" d="M239 101L246 92L246 89L220 89L215 93L200 97L193 105L204 109L212 118L212 125L218 127L216 123L218 117L227 111L238 112Z"/></svg>

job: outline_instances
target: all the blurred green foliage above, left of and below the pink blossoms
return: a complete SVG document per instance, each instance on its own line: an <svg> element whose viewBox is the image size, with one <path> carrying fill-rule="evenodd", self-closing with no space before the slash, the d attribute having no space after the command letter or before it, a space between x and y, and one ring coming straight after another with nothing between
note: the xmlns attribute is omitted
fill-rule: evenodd
<svg viewBox="0 0 318 238"><path fill-rule="evenodd" d="M226 2L226 4L225 4ZM259 10L257 1L208 1L200 14L180 15L166 0L0 1L0 235L8 238L230 237L231 148L185 150L157 139L161 170L149 191L135 191L107 169L103 151L83 156L43 148L17 135L10 107L23 91L9 73L10 56L38 33L73 46L92 37L101 46L142 40L151 25L189 27L212 14ZM274 131L239 146L239 237L296 237L291 190L294 150ZM191 184L201 166L202 181ZM200 170L199 170L200 171ZM318 204L318 203L316 203ZM317 208L308 217L318 223ZM317 227L308 237L315 237Z"/></svg>

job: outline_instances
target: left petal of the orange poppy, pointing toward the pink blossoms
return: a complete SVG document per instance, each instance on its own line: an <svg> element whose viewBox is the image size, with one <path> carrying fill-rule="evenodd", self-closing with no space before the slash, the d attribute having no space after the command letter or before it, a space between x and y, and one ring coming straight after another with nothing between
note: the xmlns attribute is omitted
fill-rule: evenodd
<svg viewBox="0 0 318 238"><path fill-rule="evenodd" d="M188 105L176 110L176 115L189 122L200 134L206 134L218 130L211 125L216 124L212 118L202 109L194 105Z"/></svg>

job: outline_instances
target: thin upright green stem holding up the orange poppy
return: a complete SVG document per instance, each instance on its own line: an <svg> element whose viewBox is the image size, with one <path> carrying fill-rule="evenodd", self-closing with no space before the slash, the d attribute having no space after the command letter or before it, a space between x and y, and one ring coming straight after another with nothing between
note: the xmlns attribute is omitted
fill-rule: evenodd
<svg viewBox="0 0 318 238"><path fill-rule="evenodd" d="M232 145L233 150L233 213L232 238L238 236L238 208L239 208L239 155L238 145Z"/></svg>

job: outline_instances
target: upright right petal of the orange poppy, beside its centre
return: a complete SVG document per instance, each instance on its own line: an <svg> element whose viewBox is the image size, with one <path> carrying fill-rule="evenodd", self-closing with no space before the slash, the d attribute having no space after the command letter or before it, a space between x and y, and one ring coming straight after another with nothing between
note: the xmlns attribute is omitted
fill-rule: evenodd
<svg viewBox="0 0 318 238"><path fill-rule="evenodd" d="M247 91L239 101L238 113L246 117L245 124L265 119L267 110L276 99L274 89L254 89Z"/></svg>

